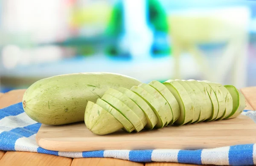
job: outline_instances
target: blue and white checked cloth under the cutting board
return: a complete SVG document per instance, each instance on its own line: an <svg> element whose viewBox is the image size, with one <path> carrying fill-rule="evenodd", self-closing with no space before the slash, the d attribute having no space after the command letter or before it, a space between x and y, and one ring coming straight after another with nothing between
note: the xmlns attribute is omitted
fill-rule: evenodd
<svg viewBox="0 0 256 166"><path fill-rule="evenodd" d="M242 114L256 122L256 112L245 110ZM26 151L64 157L113 157L135 162L177 162L247 166L256 164L256 143L226 146L215 149L179 150L105 150L92 152L57 152L43 149L35 142L41 123L30 119L22 103L0 109L0 150Z"/></svg>

